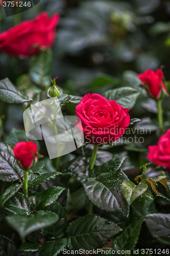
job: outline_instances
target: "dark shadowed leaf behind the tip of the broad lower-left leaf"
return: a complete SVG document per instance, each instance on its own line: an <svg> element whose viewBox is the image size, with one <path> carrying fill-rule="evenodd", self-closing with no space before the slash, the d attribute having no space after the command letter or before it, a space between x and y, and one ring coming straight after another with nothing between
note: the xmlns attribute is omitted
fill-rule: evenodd
<svg viewBox="0 0 170 256"><path fill-rule="evenodd" d="M61 204L55 201L50 206L47 206L46 209L55 212L55 214L58 215L59 220L54 225L43 228L41 231L42 236L47 237L48 239L62 238L65 236L67 228L67 217L64 208Z"/></svg>

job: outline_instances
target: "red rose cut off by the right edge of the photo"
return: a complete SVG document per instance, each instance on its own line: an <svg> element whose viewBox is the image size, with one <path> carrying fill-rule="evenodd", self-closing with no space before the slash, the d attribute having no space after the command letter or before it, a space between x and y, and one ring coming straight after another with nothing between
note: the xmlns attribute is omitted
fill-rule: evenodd
<svg viewBox="0 0 170 256"><path fill-rule="evenodd" d="M157 145L149 146L147 158L170 169L170 129L160 137Z"/></svg>

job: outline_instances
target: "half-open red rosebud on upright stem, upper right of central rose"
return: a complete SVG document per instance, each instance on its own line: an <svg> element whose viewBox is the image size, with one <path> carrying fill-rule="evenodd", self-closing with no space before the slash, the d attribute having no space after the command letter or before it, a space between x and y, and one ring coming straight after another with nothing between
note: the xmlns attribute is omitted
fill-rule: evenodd
<svg viewBox="0 0 170 256"><path fill-rule="evenodd" d="M138 78L145 83L145 89L153 98L159 99L162 90L164 93L167 93L166 86L162 81L163 72L160 69L156 71L148 69L144 73L139 74Z"/></svg>

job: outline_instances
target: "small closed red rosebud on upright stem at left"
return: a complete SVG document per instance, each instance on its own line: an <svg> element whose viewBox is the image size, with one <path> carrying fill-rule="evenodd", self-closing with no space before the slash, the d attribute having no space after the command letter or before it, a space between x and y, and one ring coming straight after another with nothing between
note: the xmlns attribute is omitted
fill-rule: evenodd
<svg viewBox="0 0 170 256"><path fill-rule="evenodd" d="M37 145L32 141L16 143L13 152L24 168L31 168L34 160L37 160Z"/></svg>

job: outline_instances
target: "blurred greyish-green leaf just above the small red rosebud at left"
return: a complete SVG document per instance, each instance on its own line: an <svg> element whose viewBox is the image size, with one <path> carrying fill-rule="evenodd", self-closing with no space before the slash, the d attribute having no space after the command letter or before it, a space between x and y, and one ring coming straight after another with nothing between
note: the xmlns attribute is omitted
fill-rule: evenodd
<svg viewBox="0 0 170 256"><path fill-rule="evenodd" d="M38 142L33 135L29 134L29 137L32 138L29 140L33 141L34 143L36 143L38 145ZM20 129L13 128L12 131L10 132L10 134L6 138L6 143L12 144L13 146L15 146L15 144L18 143L19 141L28 141L26 132L22 131Z"/></svg>

